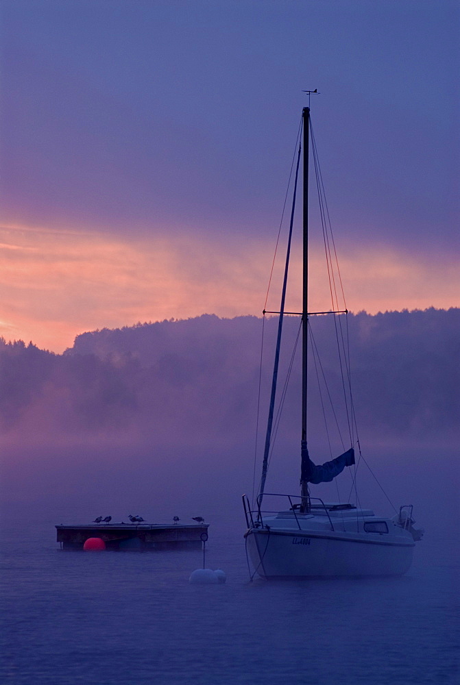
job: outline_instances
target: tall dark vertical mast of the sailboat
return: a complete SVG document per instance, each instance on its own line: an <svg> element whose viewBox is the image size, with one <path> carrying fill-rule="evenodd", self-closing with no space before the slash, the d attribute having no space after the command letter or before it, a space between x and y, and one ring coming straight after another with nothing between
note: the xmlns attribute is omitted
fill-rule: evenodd
<svg viewBox="0 0 460 685"><path fill-rule="evenodd" d="M309 103L308 103L309 104ZM300 495L302 508L308 508L308 482L303 475L308 463L306 446L306 391L307 391L307 343L308 343L308 129L310 125L310 108L302 110L304 128L304 184L303 184L303 294L302 294L302 468L300 475Z"/></svg>

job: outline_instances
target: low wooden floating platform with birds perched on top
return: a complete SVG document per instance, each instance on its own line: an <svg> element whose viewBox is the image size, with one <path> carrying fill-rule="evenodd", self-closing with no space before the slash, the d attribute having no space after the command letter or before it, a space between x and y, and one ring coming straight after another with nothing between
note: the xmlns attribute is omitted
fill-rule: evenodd
<svg viewBox="0 0 460 685"><path fill-rule="evenodd" d="M83 549L88 538L101 538L106 549L139 551L200 549L208 523L90 523L56 525L61 549Z"/></svg>

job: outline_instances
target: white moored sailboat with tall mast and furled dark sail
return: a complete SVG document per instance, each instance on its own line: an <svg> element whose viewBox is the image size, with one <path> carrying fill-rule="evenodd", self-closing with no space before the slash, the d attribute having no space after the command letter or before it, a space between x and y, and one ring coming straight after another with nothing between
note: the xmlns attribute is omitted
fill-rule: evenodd
<svg viewBox="0 0 460 685"><path fill-rule="evenodd" d="M306 91L308 92L308 91ZM308 92L308 97L311 92ZM310 103L308 102L308 105ZM295 208L295 193L298 181L298 171L301 159L301 143L299 144L297 167L293 190L293 206L287 244L287 258L282 284L282 295L278 314L278 336L274 358L274 372L271 383L271 397L267 421L267 434L261 482L255 501L243 495L243 507L247 525L245 542L248 556L254 566L254 574L258 573L267 579L276 578L308 578L332 576L388 576L402 575L409 570L413 558L415 542L420 540L423 530L415 526L413 506L404 505L395 510L394 516L378 516L372 509L362 508L356 492L356 502L336 501L324 502L319 497L313 497L310 487L323 482L331 482L343 471L352 473L352 480L356 484L356 468L361 462L362 454L359 440L350 433L350 447L341 455L318 465L311 460L307 446L307 369L309 321L311 316L328 315L342 316L348 314L346 308L339 309L337 297L332 297L330 312L308 311L308 167L309 147L311 146L315 176L319 184L318 197L322 208L320 216L327 221L328 211L325 205L324 186L317 165L317 151L313 128L311 127L310 107L302 110L300 131L303 131L303 220L302 220L302 312L286 312L285 299L288 280L289 258L291 253L291 238L293 231L293 217ZM302 133L299 134L299 141ZM324 228L324 226L323 226ZM326 225L327 229L327 225ZM333 238L332 238L333 241ZM330 240L326 237L326 257ZM335 251L335 247L333 247ZM328 269L332 265L328 265ZM264 311L264 316L265 316ZM302 410L300 425L300 493L284 495L265 492L265 479L271 454L274 409L277 397L277 380L282 340L282 324L285 314L298 314L301 317L300 330L302 332ZM336 327L337 329L337 327ZM345 367L345 383L350 382L348 360L343 356ZM354 406L351 399L349 415L354 421ZM354 442L353 442L354 440ZM357 451L358 456L355 456ZM351 493L350 493L351 494ZM274 508L269 500L279 504L281 508Z"/></svg>

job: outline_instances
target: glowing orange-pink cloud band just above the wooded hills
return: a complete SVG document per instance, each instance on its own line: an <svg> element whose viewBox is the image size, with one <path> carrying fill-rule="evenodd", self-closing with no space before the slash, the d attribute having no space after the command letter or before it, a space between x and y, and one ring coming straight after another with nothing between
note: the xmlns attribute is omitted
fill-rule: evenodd
<svg viewBox="0 0 460 685"><path fill-rule="evenodd" d="M273 246L259 238L165 230L162 237L120 238L97 232L25 226L0 229L0 334L62 351L84 331L138 321L260 315ZM278 260L268 308L278 308ZM341 256L352 311L458 306L453 258L442 264L380 247ZM330 308L322 256L311 255L311 308ZM300 260L291 287L300 292ZM298 297L287 308L298 310Z"/></svg>

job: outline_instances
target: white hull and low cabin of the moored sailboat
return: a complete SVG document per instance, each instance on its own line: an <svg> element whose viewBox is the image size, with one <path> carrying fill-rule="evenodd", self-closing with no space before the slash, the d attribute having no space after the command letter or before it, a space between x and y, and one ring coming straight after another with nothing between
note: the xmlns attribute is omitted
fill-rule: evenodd
<svg viewBox="0 0 460 685"><path fill-rule="evenodd" d="M301 527L296 528L292 519L282 527L282 521L273 519L271 523L275 525L250 528L246 534L247 549L258 575L265 578L359 577L403 575L409 570L415 546L413 538L388 519L387 534L365 532L356 518L348 519L343 530L324 530L324 516L318 519L319 516L314 516L301 521Z"/></svg>

